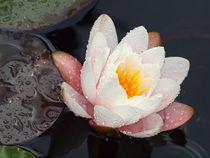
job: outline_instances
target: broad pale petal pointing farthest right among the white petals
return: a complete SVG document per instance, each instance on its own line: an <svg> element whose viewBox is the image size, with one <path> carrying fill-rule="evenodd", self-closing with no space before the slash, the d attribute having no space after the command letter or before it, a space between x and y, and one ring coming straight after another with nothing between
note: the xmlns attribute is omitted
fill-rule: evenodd
<svg viewBox="0 0 210 158"><path fill-rule="evenodd" d="M161 70L161 78L171 78L179 84L188 74L190 62L182 57L167 57Z"/></svg>

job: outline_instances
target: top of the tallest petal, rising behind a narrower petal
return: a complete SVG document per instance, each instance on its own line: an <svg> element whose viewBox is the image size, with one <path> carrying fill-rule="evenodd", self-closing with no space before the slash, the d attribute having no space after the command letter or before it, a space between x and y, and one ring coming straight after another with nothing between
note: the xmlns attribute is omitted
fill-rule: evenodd
<svg viewBox="0 0 210 158"><path fill-rule="evenodd" d="M89 44L92 43L92 40L97 32L101 32L104 35L107 41L108 47L111 49L111 51L113 51L113 49L118 44L118 39L117 39L117 33L116 33L114 23L108 15L102 14L95 21L92 27L92 30L90 32Z"/></svg>

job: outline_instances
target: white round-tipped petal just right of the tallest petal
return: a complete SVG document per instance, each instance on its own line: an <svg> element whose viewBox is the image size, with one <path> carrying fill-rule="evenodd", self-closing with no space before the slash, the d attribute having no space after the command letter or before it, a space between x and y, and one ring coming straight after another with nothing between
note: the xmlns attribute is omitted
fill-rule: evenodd
<svg viewBox="0 0 210 158"><path fill-rule="evenodd" d="M147 30L143 27L137 27L131 30L120 42L120 45L123 43L129 44L135 53L141 53L148 48L148 33Z"/></svg>

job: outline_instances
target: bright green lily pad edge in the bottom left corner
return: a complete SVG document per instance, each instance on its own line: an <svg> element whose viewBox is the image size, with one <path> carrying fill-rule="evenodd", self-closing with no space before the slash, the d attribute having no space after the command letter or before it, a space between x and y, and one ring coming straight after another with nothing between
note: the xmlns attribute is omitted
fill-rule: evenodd
<svg viewBox="0 0 210 158"><path fill-rule="evenodd" d="M15 146L0 146L1 158L35 158L31 153Z"/></svg>

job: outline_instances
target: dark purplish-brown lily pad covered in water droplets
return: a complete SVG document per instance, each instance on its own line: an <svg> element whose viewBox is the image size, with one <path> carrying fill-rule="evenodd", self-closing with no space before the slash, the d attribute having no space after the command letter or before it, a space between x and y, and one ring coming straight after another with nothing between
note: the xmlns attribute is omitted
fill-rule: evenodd
<svg viewBox="0 0 210 158"><path fill-rule="evenodd" d="M0 144L30 140L56 121L62 81L40 39L0 31Z"/></svg>

